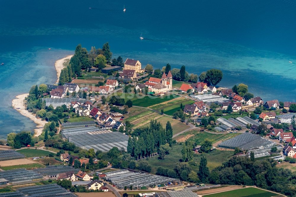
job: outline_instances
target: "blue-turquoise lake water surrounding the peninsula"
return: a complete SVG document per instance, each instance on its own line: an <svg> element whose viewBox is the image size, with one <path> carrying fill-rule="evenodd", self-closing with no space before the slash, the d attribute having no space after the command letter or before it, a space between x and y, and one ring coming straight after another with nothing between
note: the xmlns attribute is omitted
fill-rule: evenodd
<svg viewBox="0 0 296 197"><path fill-rule="evenodd" d="M54 62L78 43L90 49L108 41L114 56L154 68L218 68L220 86L245 83L263 100L294 101L295 8L292 0L1 0L0 134L35 127L11 100L54 83Z"/></svg>

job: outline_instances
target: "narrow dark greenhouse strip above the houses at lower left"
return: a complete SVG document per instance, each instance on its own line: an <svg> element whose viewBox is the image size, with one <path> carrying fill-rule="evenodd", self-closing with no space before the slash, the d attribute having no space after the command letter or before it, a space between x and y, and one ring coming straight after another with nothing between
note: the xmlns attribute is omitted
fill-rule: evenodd
<svg viewBox="0 0 296 197"><path fill-rule="evenodd" d="M44 176L54 176L59 173L74 171L77 173L80 169L79 168L73 168L72 166L46 166L45 168L38 168L34 169L34 172L42 174Z"/></svg>

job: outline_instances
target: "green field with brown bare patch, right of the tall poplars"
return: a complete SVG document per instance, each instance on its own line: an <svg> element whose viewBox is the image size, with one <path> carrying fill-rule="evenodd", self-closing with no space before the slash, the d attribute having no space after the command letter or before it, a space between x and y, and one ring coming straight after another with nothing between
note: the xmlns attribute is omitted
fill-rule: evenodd
<svg viewBox="0 0 296 197"><path fill-rule="evenodd" d="M175 140L178 142L184 142L184 141L191 141L191 142L196 142L197 145L200 145L206 138L213 140L213 143L218 142L218 141L224 141L228 138L233 138L241 133L218 133L218 134L213 134L213 133L207 133L204 131L198 131L198 130L190 130L185 133L182 133L178 135Z"/></svg>

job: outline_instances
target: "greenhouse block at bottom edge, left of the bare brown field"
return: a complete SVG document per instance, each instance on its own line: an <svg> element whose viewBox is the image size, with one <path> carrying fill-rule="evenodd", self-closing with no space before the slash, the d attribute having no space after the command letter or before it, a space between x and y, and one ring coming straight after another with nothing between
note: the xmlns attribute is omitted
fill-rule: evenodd
<svg viewBox="0 0 296 197"><path fill-rule="evenodd" d="M20 193L25 194L25 196L31 197L46 197L46 196L76 196L74 193L62 188L57 184L49 185L36 185L25 188L17 189Z"/></svg>

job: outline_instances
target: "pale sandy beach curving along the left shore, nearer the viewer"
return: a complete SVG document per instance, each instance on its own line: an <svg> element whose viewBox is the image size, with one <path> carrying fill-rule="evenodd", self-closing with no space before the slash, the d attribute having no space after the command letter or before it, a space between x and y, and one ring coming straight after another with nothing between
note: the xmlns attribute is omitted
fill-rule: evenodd
<svg viewBox="0 0 296 197"><path fill-rule="evenodd" d="M12 107L13 108L19 108L16 109L18 112L20 112L20 114L22 114L25 117L30 118L31 120L33 120L36 124L37 124L37 128L34 129L34 136L39 136L42 133L43 127L45 125L45 123L47 123L47 121L45 120L41 120L41 118L36 118L34 114L28 112L28 110L25 109L25 103L24 103L24 99L28 96L29 94L21 94L16 96L17 99L13 99L12 100Z"/></svg>

